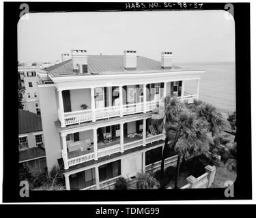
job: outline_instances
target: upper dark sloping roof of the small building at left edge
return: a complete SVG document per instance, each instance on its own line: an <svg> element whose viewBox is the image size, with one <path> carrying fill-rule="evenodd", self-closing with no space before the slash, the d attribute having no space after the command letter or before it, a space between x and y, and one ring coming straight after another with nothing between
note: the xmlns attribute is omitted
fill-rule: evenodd
<svg viewBox="0 0 256 218"><path fill-rule="evenodd" d="M18 134L42 131L41 116L27 110L18 109Z"/></svg>

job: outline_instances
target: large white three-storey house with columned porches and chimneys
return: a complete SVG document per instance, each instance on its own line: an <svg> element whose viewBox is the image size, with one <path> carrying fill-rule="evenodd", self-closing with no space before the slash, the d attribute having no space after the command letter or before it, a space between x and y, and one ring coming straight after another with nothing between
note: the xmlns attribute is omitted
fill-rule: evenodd
<svg viewBox="0 0 256 218"><path fill-rule="evenodd" d="M171 52L161 61L130 50L64 57L40 72L38 85L48 169L64 166L66 189L104 189L159 166L165 134L154 111L167 95L198 99L203 71L173 65ZM185 93L186 80L197 81L196 93Z"/></svg>

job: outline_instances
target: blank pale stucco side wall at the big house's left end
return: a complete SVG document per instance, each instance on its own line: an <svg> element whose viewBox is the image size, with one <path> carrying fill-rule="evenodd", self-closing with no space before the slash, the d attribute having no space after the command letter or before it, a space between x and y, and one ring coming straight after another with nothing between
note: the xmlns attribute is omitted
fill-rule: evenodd
<svg viewBox="0 0 256 218"><path fill-rule="evenodd" d="M57 121L55 87L49 87L46 85L44 87L39 87L38 90L40 93L41 118L44 133L46 162L48 171L51 171L53 166L58 166L57 159L61 158L61 142L59 139L57 127L54 123Z"/></svg>

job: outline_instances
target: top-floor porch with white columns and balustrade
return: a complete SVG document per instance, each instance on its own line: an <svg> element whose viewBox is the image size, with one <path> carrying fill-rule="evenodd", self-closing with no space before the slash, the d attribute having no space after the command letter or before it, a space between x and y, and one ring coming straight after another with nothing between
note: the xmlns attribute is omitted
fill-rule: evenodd
<svg viewBox="0 0 256 218"><path fill-rule="evenodd" d="M61 127L95 122L117 116L153 111L165 97L193 102L199 96L199 80L194 93L185 92L185 81L134 84L115 87L57 90Z"/></svg>

